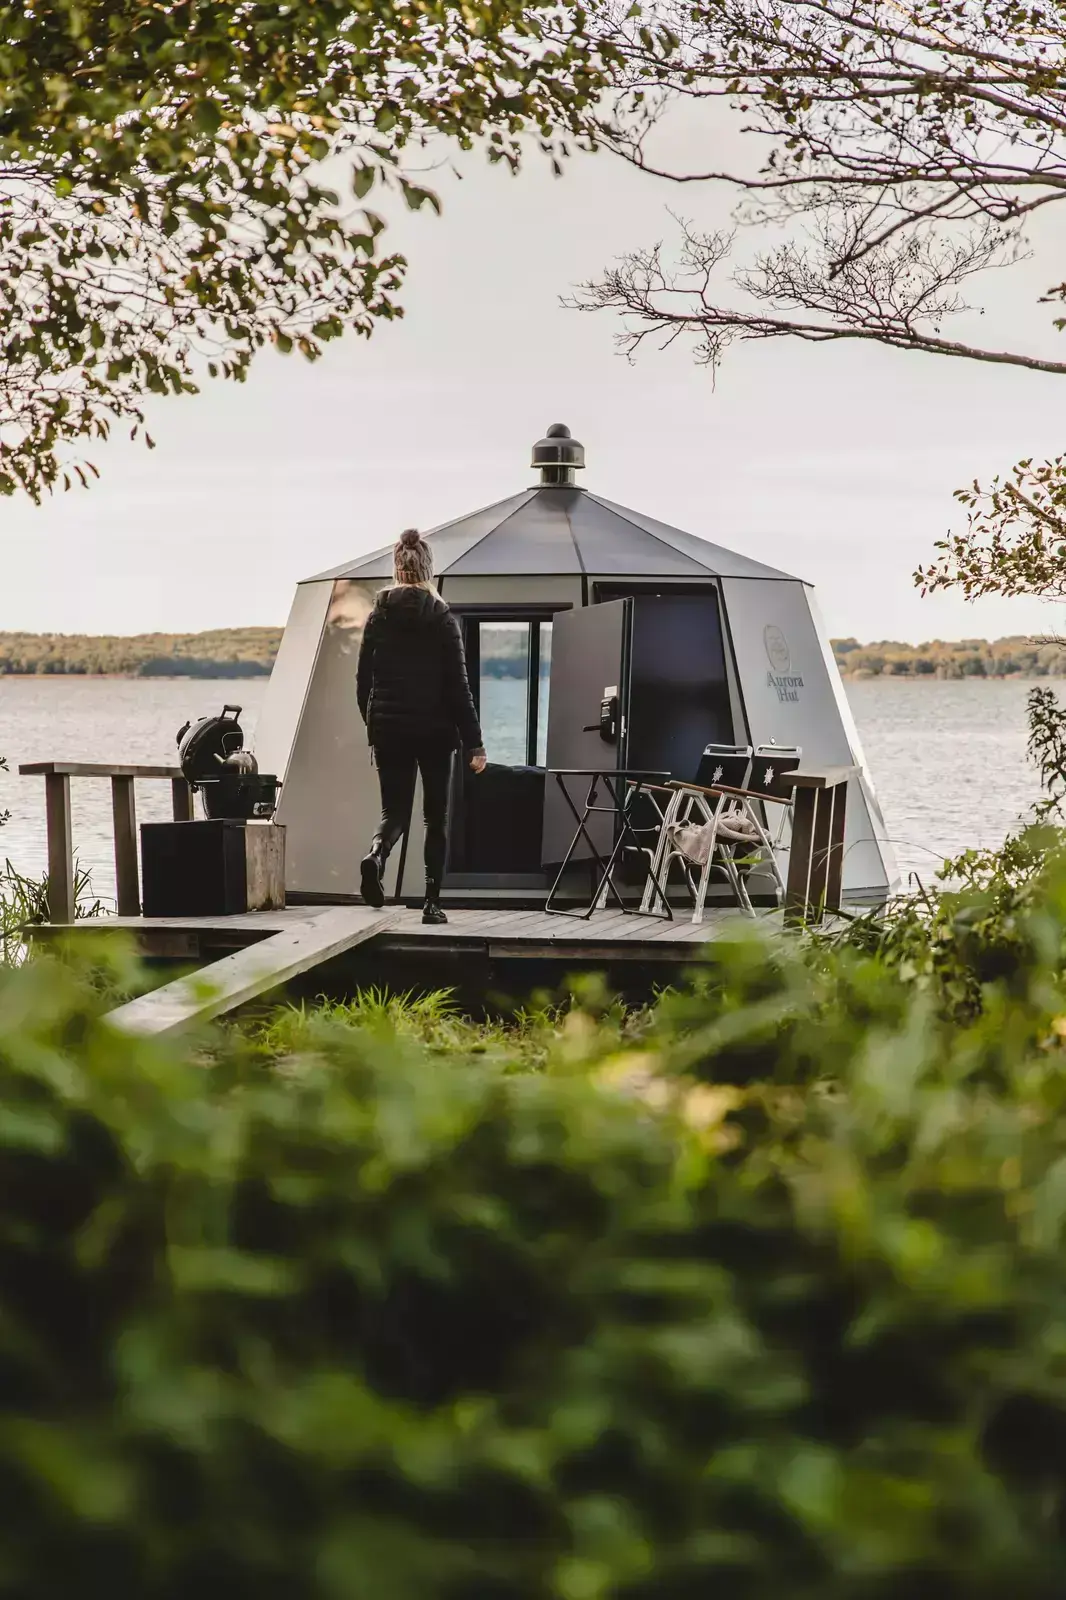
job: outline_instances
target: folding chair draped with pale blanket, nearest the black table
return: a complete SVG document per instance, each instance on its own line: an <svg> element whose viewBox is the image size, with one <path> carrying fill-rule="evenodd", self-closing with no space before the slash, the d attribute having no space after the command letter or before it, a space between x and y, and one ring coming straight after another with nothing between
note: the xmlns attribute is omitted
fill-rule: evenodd
<svg viewBox="0 0 1066 1600"><path fill-rule="evenodd" d="M738 846L749 851L752 845L762 848L763 843L763 832L749 826L738 800L747 792L751 758L749 744L709 744L691 784L671 781L663 786L667 802L640 910L653 910L658 885L667 883L669 870L677 862L693 898L693 922L703 922L715 870L725 874L747 915L755 915L736 858Z"/></svg>

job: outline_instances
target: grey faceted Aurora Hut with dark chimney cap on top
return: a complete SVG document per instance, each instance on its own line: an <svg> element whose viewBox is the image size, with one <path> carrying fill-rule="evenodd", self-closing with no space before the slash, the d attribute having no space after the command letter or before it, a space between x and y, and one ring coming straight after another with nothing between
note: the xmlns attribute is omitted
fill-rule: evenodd
<svg viewBox="0 0 1066 1600"><path fill-rule="evenodd" d="M563 424L531 466L530 488L426 534L491 763L477 779L456 763L445 896L543 899L562 854L546 768L693 778L707 742L773 742L799 747L804 765L860 766L844 898L884 901L892 850L810 584L579 485L584 448ZM283 779L295 899L359 893L379 805L355 659L391 581L387 544L296 589L256 733L262 768ZM608 744L600 717L611 714ZM423 888L419 805L389 862L387 890L405 899Z"/></svg>

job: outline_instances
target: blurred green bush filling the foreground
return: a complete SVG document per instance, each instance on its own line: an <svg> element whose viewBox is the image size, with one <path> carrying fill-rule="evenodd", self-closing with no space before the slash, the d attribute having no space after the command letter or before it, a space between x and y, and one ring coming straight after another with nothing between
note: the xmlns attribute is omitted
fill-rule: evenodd
<svg viewBox="0 0 1066 1600"><path fill-rule="evenodd" d="M1063 877L1016 920L965 1016L739 944L536 1072L0 973L0 1590L1061 1600Z"/></svg>

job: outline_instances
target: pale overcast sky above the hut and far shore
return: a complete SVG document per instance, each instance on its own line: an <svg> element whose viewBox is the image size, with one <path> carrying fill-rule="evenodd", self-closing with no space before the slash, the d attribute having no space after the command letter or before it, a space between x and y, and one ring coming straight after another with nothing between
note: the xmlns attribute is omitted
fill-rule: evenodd
<svg viewBox="0 0 1066 1600"><path fill-rule="evenodd" d="M443 218L395 229L403 322L157 403L158 448L96 448L88 493L0 501L0 629L282 622L298 579L528 485L530 445L562 421L589 488L810 579L832 634L1066 630L1061 606L922 600L911 582L962 523L952 488L1063 450L1066 378L860 344L746 344L717 384L682 350L627 365L610 317L560 296L669 237L667 206L715 221L711 203L608 157L563 179L536 158L519 178L475 157L463 171L435 178ZM1015 314L1008 278L976 331L1056 350L1066 334ZM1053 266L1029 274L1045 280Z"/></svg>

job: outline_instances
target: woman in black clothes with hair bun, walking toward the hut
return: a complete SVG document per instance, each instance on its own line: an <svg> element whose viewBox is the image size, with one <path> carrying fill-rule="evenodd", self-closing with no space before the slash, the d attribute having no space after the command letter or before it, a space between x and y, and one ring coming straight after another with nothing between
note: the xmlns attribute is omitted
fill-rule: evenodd
<svg viewBox="0 0 1066 1600"><path fill-rule="evenodd" d="M381 781L381 822L360 864L363 899L384 906L383 874L402 838L423 774L426 906L423 922L447 922L440 906L448 845L451 752L463 747L485 771L482 730L466 677L463 635L434 587L434 558L415 528L392 552L395 586L378 595L359 651L359 709Z"/></svg>

